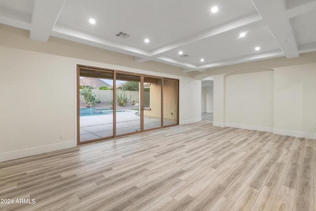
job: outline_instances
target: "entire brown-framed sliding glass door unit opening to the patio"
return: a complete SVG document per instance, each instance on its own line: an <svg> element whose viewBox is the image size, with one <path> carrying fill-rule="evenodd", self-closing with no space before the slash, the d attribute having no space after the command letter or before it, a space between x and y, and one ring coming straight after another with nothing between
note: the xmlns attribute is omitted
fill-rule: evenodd
<svg viewBox="0 0 316 211"><path fill-rule="evenodd" d="M77 66L78 145L178 125L176 79Z"/></svg>

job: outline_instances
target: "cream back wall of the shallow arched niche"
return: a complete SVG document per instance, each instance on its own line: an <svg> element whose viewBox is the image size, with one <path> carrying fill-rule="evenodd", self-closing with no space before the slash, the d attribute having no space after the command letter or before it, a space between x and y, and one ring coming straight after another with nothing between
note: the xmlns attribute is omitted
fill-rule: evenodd
<svg viewBox="0 0 316 211"><path fill-rule="evenodd" d="M247 70L226 77L226 126L273 131L272 70Z"/></svg>

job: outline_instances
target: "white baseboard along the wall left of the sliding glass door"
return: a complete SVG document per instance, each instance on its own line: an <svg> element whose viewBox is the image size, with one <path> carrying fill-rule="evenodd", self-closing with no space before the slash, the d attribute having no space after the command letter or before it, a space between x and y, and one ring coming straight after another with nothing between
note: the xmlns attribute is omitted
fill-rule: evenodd
<svg viewBox="0 0 316 211"><path fill-rule="evenodd" d="M76 146L75 141L67 141L57 144L50 144L40 147L33 147L11 152L0 153L0 162L9 161L17 158L24 158L32 155L39 155L46 152L52 152L61 149L67 149Z"/></svg>

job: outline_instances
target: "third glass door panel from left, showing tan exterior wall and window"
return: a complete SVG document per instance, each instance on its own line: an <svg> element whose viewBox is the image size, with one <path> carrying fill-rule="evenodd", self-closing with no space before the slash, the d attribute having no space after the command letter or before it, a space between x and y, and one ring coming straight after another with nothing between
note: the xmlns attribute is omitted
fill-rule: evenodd
<svg viewBox="0 0 316 211"><path fill-rule="evenodd" d="M144 130L161 127L162 79L144 77Z"/></svg>

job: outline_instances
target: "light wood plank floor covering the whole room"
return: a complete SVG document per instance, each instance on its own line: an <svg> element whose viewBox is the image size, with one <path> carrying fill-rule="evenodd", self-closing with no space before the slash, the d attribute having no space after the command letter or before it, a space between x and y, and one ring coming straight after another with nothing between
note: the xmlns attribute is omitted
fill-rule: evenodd
<svg viewBox="0 0 316 211"><path fill-rule="evenodd" d="M315 211L315 160L316 140L201 121L2 162L0 199L36 203L0 210Z"/></svg>

